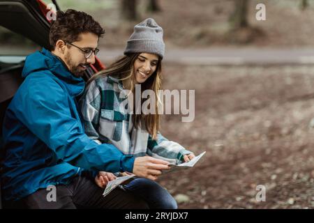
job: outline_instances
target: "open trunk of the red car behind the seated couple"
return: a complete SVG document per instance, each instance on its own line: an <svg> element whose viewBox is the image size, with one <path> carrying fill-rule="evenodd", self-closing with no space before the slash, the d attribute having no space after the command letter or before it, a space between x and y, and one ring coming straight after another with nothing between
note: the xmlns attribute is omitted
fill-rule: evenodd
<svg viewBox="0 0 314 223"><path fill-rule="evenodd" d="M52 3L57 4L56 1L52 1ZM59 6L57 6L58 9ZM50 49L50 21L45 16L47 11L45 3L41 0L0 0L0 28L3 27L13 33L20 34L23 38L36 43L38 47ZM1 45L5 44L0 42L0 176L1 162L3 155L6 153L2 140L3 117L6 107L8 107L10 100L12 100L13 95L23 82L22 69L27 56L25 54L3 54ZM83 78L87 81L91 75L104 68L105 66L96 58L96 63L87 68Z"/></svg>

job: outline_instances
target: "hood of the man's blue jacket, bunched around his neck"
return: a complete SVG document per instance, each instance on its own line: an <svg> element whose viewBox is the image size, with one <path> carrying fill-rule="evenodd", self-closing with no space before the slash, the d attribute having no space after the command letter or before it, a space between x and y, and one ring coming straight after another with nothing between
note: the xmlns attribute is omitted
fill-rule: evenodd
<svg viewBox="0 0 314 223"><path fill-rule="evenodd" d="M75 77L59 57L45 48L42 51L27 56L22 77L25 78L31 73L41 70L50 70L54 76L63 80L70 95L77 96L83 93L85 86L84 79L82 77Z"/></svg>

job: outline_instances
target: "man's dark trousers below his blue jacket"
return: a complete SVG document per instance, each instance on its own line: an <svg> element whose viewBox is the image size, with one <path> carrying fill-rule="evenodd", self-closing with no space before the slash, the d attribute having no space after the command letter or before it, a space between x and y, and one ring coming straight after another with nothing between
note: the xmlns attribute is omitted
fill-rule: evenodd
<svg viewBox="0 0 314 223"><path fill-rule="evenodd" d="M36 209L80 209L80 208L108 208L108 209L147 209L149 206L140 197L119 187L103 197L103 189L84 176L73 178L68 185L57 185L56 201L47 201L50 190L40 189L19 201L6 201L4 208L36 208ZM49 196L48 196L49 197Z"/></svg>

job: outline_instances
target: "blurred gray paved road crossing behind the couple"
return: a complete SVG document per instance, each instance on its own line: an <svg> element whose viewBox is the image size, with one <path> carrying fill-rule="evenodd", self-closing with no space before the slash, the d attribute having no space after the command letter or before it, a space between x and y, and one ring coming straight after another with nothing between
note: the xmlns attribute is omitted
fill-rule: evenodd
<svg viewBox="0 0 314 223"><path fill-rule="evenodd" d="M101 49L101 61L112 61L123 49ZM314 64L314 48L208 48L167 49L165 62L193 65L284 65Z"/></svg>

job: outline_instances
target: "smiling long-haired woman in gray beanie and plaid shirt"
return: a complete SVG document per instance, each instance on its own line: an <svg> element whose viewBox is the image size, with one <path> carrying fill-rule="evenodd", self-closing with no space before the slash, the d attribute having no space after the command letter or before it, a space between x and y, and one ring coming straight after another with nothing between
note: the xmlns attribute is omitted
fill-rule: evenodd
<svg viewBox="0 0 314 223"><path fill-rule="evenodd" d="M153 19L134 27L125 56L91 77L80 101L89 137L98 143L114 144L124 154L135 157L151 155L170 163L187 162L195 157L158 132L158 90L164 52L163 29ZM135 92L138 89L140 93ZM138 98L146 90L153 91L155 98ZM154 114L138 112L147 102L154 107ZM167 190L154 181L160 174L152 179L135 178L124 189L146 199L151 208L177 208Z"/></svg>

